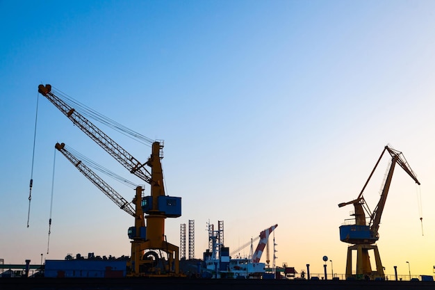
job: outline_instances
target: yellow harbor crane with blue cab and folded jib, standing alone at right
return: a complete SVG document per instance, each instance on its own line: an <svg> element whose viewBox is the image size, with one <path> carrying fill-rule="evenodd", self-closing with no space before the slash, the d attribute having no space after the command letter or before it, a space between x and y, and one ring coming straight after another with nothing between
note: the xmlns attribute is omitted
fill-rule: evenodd
<svg viewBox="0 0 435 290"><path fill-rule="evenodd" d="M375 172L379 161L385 152L388 152L391 156L391 164L388 169L388 174L384 181L384 187L381 191L379 202L374 211L370 211L366 200L363 197L363 191L366 188L370 178ZM379 250L374 243L379 240L379 224L381 223L382 212L384 211L386 198L391 185L391 179L393 178L394 168L398 164L408 175L413 179L416 184L420 185L415 173L409 167L407 160L404 158L402 152L394 150L391 147L385 146L384 150L379 156L375 168L370 173L366 184L364 184L361 193L355 200L350 202L342 202L338 204L338 207L344 207L348 204L354 205L354 213L351 216L354 218L346 220L344 225L340 226L340 241L345 243L351 243L347 248L347 263L346 263L346 278L356 279L381 279L384 280L384 267L381 264L381 258L379 256ZM366 218L366 214L368 217ZM350 222L350 223L348 223ZM356 250L356 274L352 273L352 251ZM368 255L369 250L373 250L375 254L376 270L372 271L370 265L370 257Z"/></svg>

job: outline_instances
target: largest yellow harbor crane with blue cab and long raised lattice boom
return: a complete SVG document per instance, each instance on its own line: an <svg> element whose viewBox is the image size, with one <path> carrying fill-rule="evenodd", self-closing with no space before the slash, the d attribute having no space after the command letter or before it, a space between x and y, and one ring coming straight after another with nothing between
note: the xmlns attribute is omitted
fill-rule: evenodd
<svg viewBox="0 0 435 290"><path fill-rule="evenodd" d="M137 189L136 202L140 196L140 207L136 204L135 218L145 214L146 225L140 230L138 227L129 229L131 242L131 261L129 261L127 275L129 276L177 276L179 275L179 248L166 241L165 218L181 216L181 198L165 195L163 183L163 142L154 141L151 145L151 155L145 163L140 163L129 152L124 150L114 140L108 137L95 124L92 124L81 113L69 106L60 97L51 92L51 85L38 86L38 92L56 106L79 129L102 147L110 156L122 164L133 175L150 184L151 194L141 196L142 190ZM151 168L151 172L145 167ZM141 191L138 193L138 191ZM157 252L167 254L167 263L159 261ZM149 266L150 259L153 260Z"/></svg>

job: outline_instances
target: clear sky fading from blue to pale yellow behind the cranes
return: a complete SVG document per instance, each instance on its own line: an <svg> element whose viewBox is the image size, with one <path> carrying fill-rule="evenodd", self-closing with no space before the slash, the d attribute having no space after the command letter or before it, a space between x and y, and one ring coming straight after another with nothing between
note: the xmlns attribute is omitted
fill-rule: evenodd
<svg viewBox="0 0 435 290"><path fill-rule="evenodd" d="M391 145L421 186L396 168L379 228L382 264L388 275L393 266L433 274L434 1L3 0L0 9L5 264L130 255L131 216L54 145L141 182L38 97L49 83L164 140L166 193L182 198L165 234L179 245L180 225L195 220L197 258L208 248L207 223L224 221L230 252L278 224L277 266L322 273L326 255L328 272L344 274L348 244L338 227L353 208L338 203L359 195ZM95 124L147 160L149 146ZM388 158L364 193L370 209L386 168Z"/></svg>

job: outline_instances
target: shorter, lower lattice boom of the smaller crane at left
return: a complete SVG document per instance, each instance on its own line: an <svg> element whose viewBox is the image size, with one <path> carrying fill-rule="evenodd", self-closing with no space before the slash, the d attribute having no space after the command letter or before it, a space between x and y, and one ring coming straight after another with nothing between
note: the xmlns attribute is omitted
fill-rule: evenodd
<svg viewBox="0 0 435 290"><path fill-rule="evenodd" d="M65 149L65 143L56 143L54 146L60 153L63 154L80 172L85 175L86 178L90 180L95 186L99 188L105 195L107 195L110 200L115 202L115 204L120 207L127 214L136 217L133 207L131 207L130 202L125 200L119 193L115 191L110 185L108 185L101 177L99 177L95 172L93 172L88 166L85 166L83 162L76 158L71 152Z"/></svg>

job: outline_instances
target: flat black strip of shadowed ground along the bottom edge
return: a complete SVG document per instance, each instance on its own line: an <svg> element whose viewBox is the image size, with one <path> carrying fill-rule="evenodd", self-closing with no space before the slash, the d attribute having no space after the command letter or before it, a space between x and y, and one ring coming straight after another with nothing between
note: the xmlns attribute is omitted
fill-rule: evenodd
<svg viewBox="0 0 435 290"><path fill-rule="evenodd" d="M215 280L188 278L0 278L1 290L404 290L435 282L345 280Z"/></svg>

